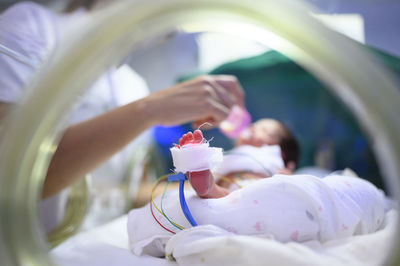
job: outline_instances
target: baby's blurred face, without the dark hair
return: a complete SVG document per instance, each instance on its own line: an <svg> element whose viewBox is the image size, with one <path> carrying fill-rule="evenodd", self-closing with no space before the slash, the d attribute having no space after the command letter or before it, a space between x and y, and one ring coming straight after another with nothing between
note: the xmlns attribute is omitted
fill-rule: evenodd
<svg viewBox="0 0 400 266"><path fill-rule="evenodd" d="M251 145L261 147L263 145L278 145L285 134L285 130L278 121L262 119L253 123L240 134L236 141L236 146Z"/></svg>

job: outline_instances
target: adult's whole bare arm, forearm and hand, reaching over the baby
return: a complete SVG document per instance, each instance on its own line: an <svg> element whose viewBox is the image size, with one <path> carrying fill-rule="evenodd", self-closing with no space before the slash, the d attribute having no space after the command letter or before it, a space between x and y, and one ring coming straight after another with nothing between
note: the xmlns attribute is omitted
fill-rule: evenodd
<svg viewBox="0 0 400 266"><path fill-rule="evenodd" d="M217 125L243 91L232 76L203 76L68 127L50 162L43 197L91 172L149 127L191 121Z"/></svg>

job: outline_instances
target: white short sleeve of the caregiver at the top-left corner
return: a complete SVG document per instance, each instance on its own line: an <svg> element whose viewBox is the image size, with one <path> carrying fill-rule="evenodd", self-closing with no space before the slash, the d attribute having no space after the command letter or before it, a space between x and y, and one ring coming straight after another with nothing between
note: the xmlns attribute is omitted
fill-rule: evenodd
<svg viewBox="0 0 400 266"><path fill-rule="evenodd" d="M54 50L55 14L22 2L0 15L0 101L16 102L42 62Z"/></svg>

